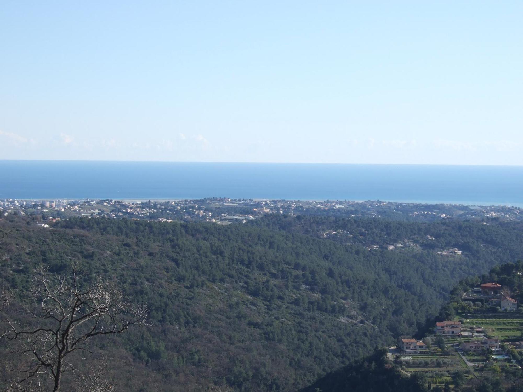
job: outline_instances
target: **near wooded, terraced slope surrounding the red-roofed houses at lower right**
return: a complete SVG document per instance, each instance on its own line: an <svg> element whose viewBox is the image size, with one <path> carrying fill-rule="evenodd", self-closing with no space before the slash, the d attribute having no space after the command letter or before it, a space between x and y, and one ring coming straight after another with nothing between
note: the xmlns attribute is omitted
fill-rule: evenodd
<svg viewBox="0 0 523 392"><path fill-rule="evenodd" d="M355 360L348 365L331 372L316 382L300 390L300 392L353 392L353 391L406 391L441 392L444 387L431 385L435 379L444 380L448 383L443 390L456 392L519 392L523 389L523 350L516 343L520 341L519 333L523 331L521 322L521 308L518 312L502 312L499 306L482 306L476 303L474 307L464 301L465 293L484 282L497 282L503 287L505 294L517 298L518 302L523 301L523 261L508 262L494 266L488 273L482 275L471 275L459 281L450 293L448 303L442 306L440 314L431 322L430 328L420 330L426 336L434 336L434 326L436 321L451 320L460 318L462 328L470 325L481 325L488 337L500 338L501 349L504 354L510 355L516 363L511 361L493 361L488 354L480 355L474 359L474 354L469 353L468 359L474 360L472 367L463 371L461 366L456 370L442 372L442 367L432 367L433 365L417 368L418 371L410 371L408 362L393 361L387 358L388 350L385 348L374 351L371 355L363 359ZM496 330L496 327L498 328ZM513 333L516 338L511 338ZM469 336L460 337L463 341L472 341ZM480 338L476 338L476 341ZM459 345L459 343L458 343ZM454 342L447 341L447 348L455 350L457 347ZM405 357L408 358L405 354ZM430 354L425 354L428 358ZM422 355L423 356L423 355ZM484 358L486 356L486 358ZM393 356L389 356L393 359ZM415 358L415 356L413 356ZM419 358L419 356L418 356ZM479 360L478 360L479 358ZM488 360L487 360L488 359ZM470 362L469 362L470 363ZM465 366L467 367L467 366ZM420 371L425 369L425 371ZM462 376L459 376L462 373ZM449 377L449 375L451 377ZM466 375L466 376L465 376ZM461 380L460 385L456 385L456 380ZM431 386L431 388L429 388Z"/></svg>

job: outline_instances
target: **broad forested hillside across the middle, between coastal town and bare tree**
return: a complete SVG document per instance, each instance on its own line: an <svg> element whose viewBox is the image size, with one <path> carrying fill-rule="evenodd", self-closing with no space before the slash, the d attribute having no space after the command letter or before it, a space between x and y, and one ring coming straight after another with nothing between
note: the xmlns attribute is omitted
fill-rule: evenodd
<svg viewBox="0 0 523 392"><path fill-rule="evenodd" d="M359 234L317 238L323 229ZM72 218L45 229L9 217L0 284L22 298L40 264L58 276L81 261L86 284L116 281L148 303L152 326L99 342L120 390L288 391L415 333L459 279L521 258L522 230L306 216L229 226ZM366 248L425 235L434 240L415 249ZM464 255L436 255L453 246Z"/></svg>

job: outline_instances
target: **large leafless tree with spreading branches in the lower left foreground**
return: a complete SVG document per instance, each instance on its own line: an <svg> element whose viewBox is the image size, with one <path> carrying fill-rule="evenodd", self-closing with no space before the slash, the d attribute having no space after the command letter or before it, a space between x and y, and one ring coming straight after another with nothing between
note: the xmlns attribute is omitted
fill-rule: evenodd
<svg viewBox="0 0 523 392"><path fill-rule="evenodd" d="M80 356L74 353L92 353L89 342L94 337L121 333L131 325L144 325L147 308L133 305L112 282L98 280L83 287L81 281L76 266L71 276L56 282L51 282L48 269L41 267L30 295L33 304L22 306L36 319L34 327L24 328L9 318L3 320L6 327L0 338L18 342L14 352L29 362L10 369L21 375L14 384L19 390L33 390L28 382L35 379L34 383L40 385L42 377L49 377L50 390L58 392L66 372L76 375L84 386L89 382L90 387L85 390L111 390L96 389L100 373L94 368L90 369L90 375L80 373L74 364Z"/></svg>

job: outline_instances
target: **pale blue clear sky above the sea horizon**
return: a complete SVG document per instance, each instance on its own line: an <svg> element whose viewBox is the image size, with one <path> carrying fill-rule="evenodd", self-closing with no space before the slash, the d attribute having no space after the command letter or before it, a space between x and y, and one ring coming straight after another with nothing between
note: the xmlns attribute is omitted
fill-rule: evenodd
<svg viewBox="0 0 523 392"><path fill-rule="evenodd" d="M3 2L0 159L523 165L523 3Z"/></svg>

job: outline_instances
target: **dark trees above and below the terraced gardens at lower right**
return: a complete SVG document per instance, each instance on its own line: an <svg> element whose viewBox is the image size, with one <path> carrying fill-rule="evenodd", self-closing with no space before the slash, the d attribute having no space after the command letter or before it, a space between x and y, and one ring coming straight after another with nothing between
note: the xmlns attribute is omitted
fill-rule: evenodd
<svg viewBox="0 0 523 392"><path fill-rule="evenodd" d="M467 276L460 280L451 291L448 303L442 306L440 314L430 323L428 335L433 334L434 323L436 320L454 319L456 315L467 317L471 309L464 306L462 295L473 287L479 286L484 282L498 282L502 285L505 292L510 292L511 296L523 299L523 261L509 262L494 266L488 273L482 275ZM467 313L468 312L468 313ZM479 312L490 312L492 318L503 317L499 309L485 308ZM510 314L507 315L510 317ZM504 348L514 358L519 365L523 364L521 351L514 348ZM352 363L331 372L308 387L301 389L300 392L353 392L353 391L413 391L413 392L441 392L441 390L459 392L519 392L523 390L523 371L521 368L508 367L505 364L487 363L486 367L496 367L498 372L493 375L482 377L465 378L460 371L451 374L453 379L461 379L458 385L454 380L448 381L444 388L431 386L430 379L427 377L431 372L411 372L405 371L405 366L394 363L386 356L386 349L378 349L365 358L358 359ZM465 372L472 374L471 370ZM480 372L481 374L481 372Z"/></svg>

